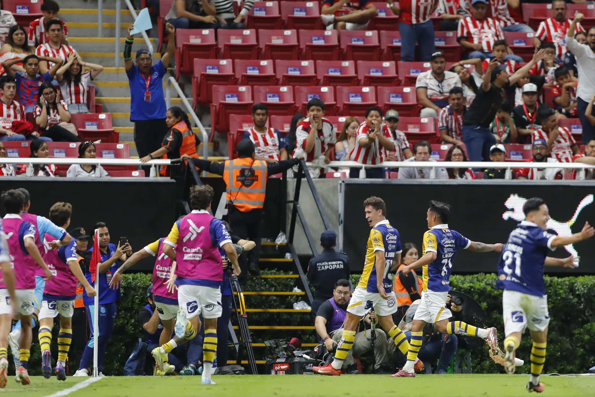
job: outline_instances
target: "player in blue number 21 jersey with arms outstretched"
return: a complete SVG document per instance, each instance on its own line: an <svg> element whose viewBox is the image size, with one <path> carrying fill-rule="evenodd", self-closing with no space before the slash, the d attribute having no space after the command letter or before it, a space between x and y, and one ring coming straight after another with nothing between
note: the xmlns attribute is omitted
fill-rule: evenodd
<svg viewBox="0 0 595 397"><path fill-rule="evenodd" d="M549 210L543 199L534 197L523 205L525 220L516 226L508 237L498 262L496 286L503 289L502 310L504 315L504 367L507 373L515 371L513 360L521 343L521 335L528 328L533 339L531 349L531 378L527 383L530 392L543 392L539 376L546 361L547 312L546 286L543 282L543 265L574 268L572 256L564 259L550 258L549 250L574 244L593 237L595 230L588 222L580 233L572 236L557 236L547 232Z"/></svg>

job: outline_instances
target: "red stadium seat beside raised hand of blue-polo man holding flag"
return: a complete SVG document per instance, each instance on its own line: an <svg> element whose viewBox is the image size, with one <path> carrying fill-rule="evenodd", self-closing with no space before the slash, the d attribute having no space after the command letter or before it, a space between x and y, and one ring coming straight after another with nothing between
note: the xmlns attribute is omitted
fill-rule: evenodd
<svg viewBox="0 0 595 397"><path fill-rule="evenodd" d="M215 30L177 29L176 30L176 80L180 73L191 74L193 61L197 58L208 60L217 58L215 51Z"/></svg>

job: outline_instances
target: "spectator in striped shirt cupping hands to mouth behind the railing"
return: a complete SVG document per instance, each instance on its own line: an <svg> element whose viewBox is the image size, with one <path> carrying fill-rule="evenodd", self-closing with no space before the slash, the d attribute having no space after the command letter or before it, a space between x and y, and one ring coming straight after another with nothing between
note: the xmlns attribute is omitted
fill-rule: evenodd
<svg viewBox="0 0 595 397"><path fill-rule="evenodd" d="M389 126L383 123L382 110L371 107L366 110L366 120L359 124L355 136L355 146L349 152L349 159L361 164L381 164L387 155L394 150L394 142ZM358 178L361 168L351 168L350 178ZM383 179L384 168L365 168L367 178Z"/></svg>

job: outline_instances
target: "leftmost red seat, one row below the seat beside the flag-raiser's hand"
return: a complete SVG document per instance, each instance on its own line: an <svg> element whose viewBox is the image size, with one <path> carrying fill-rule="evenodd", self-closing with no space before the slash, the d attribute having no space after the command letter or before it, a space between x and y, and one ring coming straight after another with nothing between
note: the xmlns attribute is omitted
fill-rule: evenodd
<svg viewBox="0 0 595 397"><path fill-rule="evenodd" d="M214 85L234 85L236 81L231 60L195 59L192 76L192 95L195 104L211 104Z"/></svg>

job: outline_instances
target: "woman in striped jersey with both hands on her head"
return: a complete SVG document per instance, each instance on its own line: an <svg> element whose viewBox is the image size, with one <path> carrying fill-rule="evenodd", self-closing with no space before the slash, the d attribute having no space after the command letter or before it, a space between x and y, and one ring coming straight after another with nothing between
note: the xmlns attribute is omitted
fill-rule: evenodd
<svg viewBox="0 0 595 397"><path fill-rule="evenodd" d="M85 67L90 70L83 71ZM89 81L103 70L102 65L84 62L78 52L68 54L66 63L56 72L56 80L60 83L62 97L71 113L90 113L87 107Z"/></svg>

